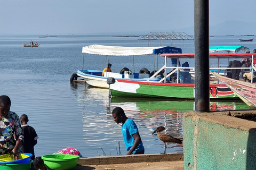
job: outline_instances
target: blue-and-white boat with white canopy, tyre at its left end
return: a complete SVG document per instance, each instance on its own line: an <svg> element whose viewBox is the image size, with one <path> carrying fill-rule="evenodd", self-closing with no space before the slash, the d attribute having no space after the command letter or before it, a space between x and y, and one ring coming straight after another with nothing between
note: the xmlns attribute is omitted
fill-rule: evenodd
<svg viewBox="0 0 256 170"><path fill-rule="evenodd" d="M102 45L90 45L84 46L82 49L83 61L84 54L94 54L94 55L106 55L107 61L108 56L120 56L120 57L131 57L136 55L158 55L163 53L182 53L181 48L175 47L121 47L121 46L102 46ZM95 60L95 58L93 58ZM99 62L99 61L97 61ZM108 62L107 62L108 63ZM129 64L127 64L129 65ZM84 68L84 62L83 62ZM105 72L102 76L102 71L100 70L78 70L77 75L82 77L87 84L93 87L99 88L109 88L107 84L107 78L112 77L114 79L127 79L131 81L146 81L149 78L149 74L144 73L134 73L131 69L126 68L126 72L114 73ZM161 78L154 78L151 81L159 81Z"/></svg>

